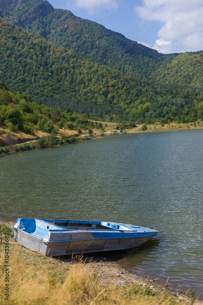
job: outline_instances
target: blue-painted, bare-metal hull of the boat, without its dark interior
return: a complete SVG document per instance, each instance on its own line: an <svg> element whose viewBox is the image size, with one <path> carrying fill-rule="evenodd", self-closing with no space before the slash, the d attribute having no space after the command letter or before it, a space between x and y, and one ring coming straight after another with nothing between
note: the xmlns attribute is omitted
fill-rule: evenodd
<svg viewBox="0 0 203 305"><path fill-rule="evenodd" d="M144 229L148 231L145 231L145 234L135 229L118 231L79 228L71 230L58 227L47 220L36 219L35 223L35 226L32 222L29 227L26 221L17 220L14 225L15 240L22 246L48 257L129 249L142 244L158 233L146 228ZM31 232L33 230L35 231Z"/></svg>

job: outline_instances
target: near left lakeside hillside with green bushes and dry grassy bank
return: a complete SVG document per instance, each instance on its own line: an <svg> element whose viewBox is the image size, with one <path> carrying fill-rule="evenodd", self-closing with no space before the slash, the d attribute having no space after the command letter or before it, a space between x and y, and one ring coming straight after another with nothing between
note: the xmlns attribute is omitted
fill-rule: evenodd
<svg viewBox="0 0 203 305"><path fill-rule="evenodd" d="M125 124L134 127L135 124ZM48 108L0 83L0 145L12 145L51 134L58 138L112 131L117 124L88 120L70 109ZM90 130L90 132L89 132Z"/></svg>

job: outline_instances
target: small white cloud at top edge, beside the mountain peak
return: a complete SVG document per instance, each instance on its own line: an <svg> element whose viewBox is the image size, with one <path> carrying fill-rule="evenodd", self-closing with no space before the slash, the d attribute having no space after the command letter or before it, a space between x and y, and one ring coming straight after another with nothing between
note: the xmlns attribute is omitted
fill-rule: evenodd
<svg viewBox="0 0 203 305"><path fill-rule="evenodd" d="M88 9L89 13L93 13L99 8L109 9L113 3L113 0L66 0L67 6Z"/></svg>

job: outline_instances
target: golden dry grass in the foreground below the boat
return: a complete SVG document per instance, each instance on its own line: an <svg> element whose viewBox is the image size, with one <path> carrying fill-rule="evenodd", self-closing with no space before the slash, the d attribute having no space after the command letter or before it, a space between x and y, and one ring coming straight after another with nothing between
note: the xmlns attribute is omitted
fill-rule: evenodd
<svg viewBox="0 0 203 305"><path fill-rule="evenodd" d="M31 252L10 239L9 301L4 300L4 240L1 249L0 304L8 305L186 305L185 301L141 286L103 285L81 259L64 263ZM189 302L192 304L192 302Z"/></svg>

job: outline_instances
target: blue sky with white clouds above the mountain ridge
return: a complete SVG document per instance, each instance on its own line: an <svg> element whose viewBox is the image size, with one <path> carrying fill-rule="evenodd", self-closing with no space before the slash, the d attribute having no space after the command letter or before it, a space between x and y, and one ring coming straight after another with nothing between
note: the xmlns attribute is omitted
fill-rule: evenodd
<svg viewBox="0 0 203 305"><path fill-rule="evenodd" d="M203 0L48 0L160 53L203 50Z"/></svg>

